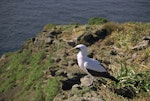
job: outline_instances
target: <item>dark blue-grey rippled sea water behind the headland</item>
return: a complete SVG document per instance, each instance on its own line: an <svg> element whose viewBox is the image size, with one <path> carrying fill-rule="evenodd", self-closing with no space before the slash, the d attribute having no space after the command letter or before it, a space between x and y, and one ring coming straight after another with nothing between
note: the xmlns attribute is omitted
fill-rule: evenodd
<svg viewBox="0 0 150 101"><path fill-rule="evenodd" d="M85 24L91 17L150 22L150 0L0 0L0 55L19 49L47 23Z"/></svg>

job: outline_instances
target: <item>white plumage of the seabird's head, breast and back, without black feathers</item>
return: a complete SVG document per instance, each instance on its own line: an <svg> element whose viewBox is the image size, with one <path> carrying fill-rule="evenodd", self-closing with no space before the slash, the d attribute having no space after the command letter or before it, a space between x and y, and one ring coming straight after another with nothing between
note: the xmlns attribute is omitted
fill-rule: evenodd
<svg viewBox="0 0 150 101"><path fill-rule="evenodd" d="M94 70L97 72L107 72L99 61L87 57L87 47L85 45L79 44L75 48L80 49L79 53L77 54L78 65L87 74L89 74L87 72L87 69Z"/></svg>

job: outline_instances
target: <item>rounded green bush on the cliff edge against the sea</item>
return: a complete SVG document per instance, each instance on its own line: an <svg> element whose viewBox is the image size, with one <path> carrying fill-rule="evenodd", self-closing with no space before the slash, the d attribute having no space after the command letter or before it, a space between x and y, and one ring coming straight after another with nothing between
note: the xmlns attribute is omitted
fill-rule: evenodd
<svg viewBox="0 0 150 101"><path fill-rule="evenodd" d="M94 18L89 19L88 25L100 25L100 24L104 24L106 22L108 22L108 20L105 18L94 17Z"/></svg>

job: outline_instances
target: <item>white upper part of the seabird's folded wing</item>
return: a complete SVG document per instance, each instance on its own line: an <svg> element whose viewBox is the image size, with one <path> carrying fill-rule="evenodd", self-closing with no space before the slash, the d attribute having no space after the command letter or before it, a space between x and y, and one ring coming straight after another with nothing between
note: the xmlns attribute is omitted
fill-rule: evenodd
<svg viewBox="0 0 150 101"><path fill-rule="evenodd" d="M97 72L107 72L106 69L100 64L99 61L91 59L91 58L88 58L85 61L84 67L90 70L97 71Z"/></svg>

